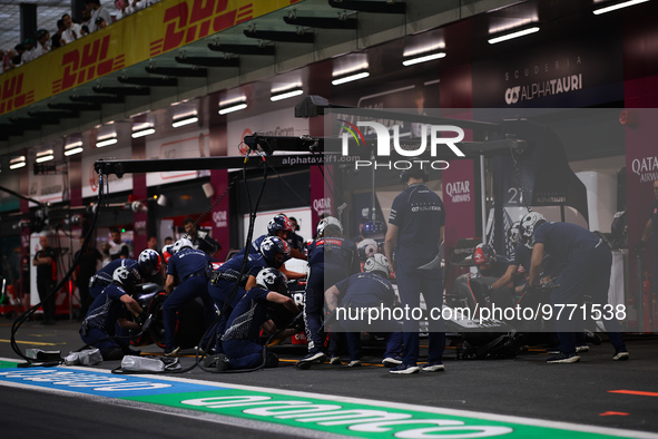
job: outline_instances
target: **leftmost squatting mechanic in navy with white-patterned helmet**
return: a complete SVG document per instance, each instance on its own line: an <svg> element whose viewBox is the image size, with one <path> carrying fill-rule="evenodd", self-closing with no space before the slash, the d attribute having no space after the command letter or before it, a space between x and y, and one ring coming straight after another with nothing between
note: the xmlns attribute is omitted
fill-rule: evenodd
<svg viewBox="0 0 658 439"><path fill-rule="evenodd" d="M138 355L129 347L128 338L116 334L117 325L122 330L139 330L139 324L127 319L127 311L135 316L143 313L141 306L130 296L137 276L132 270L120 266L112 274L112 283L105 287L89 306L82 321L80 338L90 347L98 348L104 360L120 360L124 355Z"/></svg>

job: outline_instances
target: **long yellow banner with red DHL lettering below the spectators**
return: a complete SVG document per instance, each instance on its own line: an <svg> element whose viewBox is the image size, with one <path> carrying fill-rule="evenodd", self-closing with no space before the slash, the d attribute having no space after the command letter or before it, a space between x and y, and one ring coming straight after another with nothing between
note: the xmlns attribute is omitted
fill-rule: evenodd
<svg viewBox="0 0 658 439"><path fill-rule="evenodd" d="M302 0L163 1L0 76L0 115Z"/></svg>

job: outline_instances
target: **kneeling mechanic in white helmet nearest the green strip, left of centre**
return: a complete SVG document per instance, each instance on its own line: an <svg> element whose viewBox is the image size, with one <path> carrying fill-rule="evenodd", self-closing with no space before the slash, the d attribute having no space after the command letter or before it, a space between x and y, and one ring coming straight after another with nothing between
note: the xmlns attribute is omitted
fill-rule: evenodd
<svg viewBox="0 0 658 439"><path fill-rule="evenodd" d="M218 370L273 368L278 364L276 354L266 352L261 344L261 328L267 333L277 331L267 315L268 303L282 304L295 314L299 312L289 296L286 282L285 275L275 269L258 272L256 286L247 291L228 316L222 335L224 355L218 354L216 360Z"/></svg>

